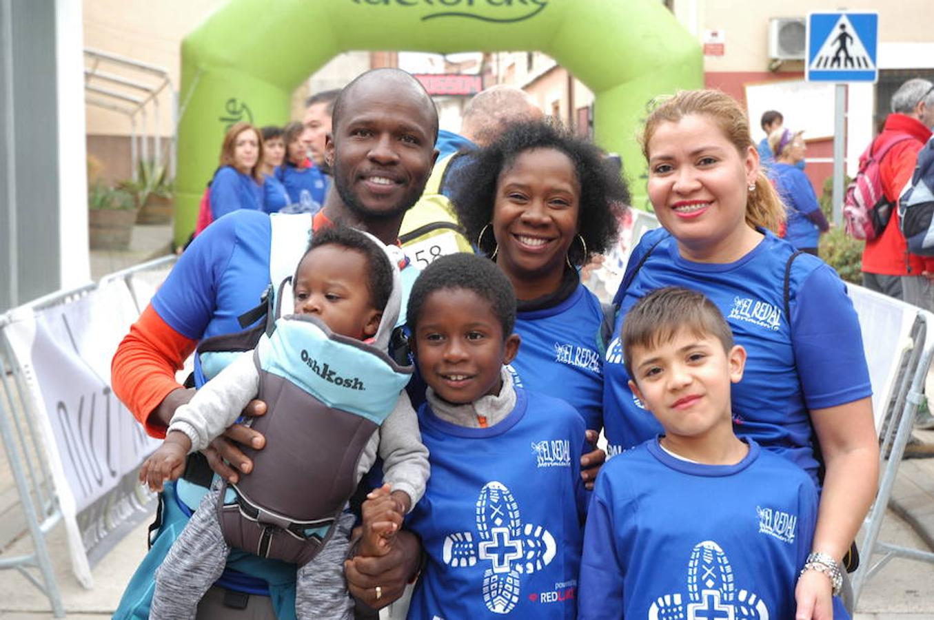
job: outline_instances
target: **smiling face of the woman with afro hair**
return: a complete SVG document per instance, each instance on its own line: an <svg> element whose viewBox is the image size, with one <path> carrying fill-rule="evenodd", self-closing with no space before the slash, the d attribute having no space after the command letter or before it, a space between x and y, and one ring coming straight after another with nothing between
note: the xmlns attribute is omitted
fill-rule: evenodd
<svg viewBox="0 0 934 620"><path fill-rule="evenodd" d="M524 151L500 173L492 221L496 262L519 299L559 288L577 233L580 193L573 162L554 148Z"/></svg>

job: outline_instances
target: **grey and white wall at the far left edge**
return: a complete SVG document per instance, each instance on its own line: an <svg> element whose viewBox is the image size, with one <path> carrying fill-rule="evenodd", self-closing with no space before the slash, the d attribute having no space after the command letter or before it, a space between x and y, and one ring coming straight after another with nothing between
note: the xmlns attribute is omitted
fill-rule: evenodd
<svg viewBox="0 0 934 620"><path fill-rule="evenodd" d="M90 277L80 21L67 0L0 0L0 312Z"/></svg>

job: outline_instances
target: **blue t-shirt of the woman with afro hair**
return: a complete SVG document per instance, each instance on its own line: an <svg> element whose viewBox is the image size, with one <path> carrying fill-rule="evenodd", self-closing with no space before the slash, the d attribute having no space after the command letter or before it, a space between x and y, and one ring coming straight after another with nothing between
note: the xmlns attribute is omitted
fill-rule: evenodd
<svg viewBox="0 0 934 620"><path fill-rule="evenodd" d="M603 427L603 359L598 340L603 310L596 295L579 284L563 302L519 312L522 337L510 364L517 386L571 403L587 429Z"/></svg>

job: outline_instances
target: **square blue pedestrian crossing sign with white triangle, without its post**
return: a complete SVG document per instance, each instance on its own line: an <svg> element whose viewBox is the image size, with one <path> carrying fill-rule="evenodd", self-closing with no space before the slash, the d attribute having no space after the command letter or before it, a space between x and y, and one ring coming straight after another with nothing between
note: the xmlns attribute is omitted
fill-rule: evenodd
<svg viewBox="0 0 934 620"><path fill-rule="evenodd" d="M811 13L804 77L812 82L875 82L878 49L878 13Z"/></svg>

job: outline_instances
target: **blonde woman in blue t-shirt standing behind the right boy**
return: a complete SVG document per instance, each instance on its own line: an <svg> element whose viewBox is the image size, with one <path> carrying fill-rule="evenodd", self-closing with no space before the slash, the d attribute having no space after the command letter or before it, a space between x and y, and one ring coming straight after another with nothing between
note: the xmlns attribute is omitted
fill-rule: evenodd
<svg viewBox="0 0 934 620"><path fill-rule="evenodd" d="M662 228L633 249L616 293L603 366L608 452L615 458L660 430L622 363L627 313L655 289L698 290L748 352L743 381L732 388L737 435L823 484L813 550L842 561L875 496L879 467L869 370L846 287L826 263L796 256L771 232L785 206L729 95L679 92L649 115L642 144Z"/></svg>

